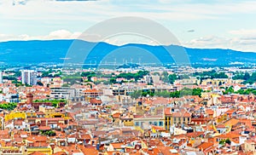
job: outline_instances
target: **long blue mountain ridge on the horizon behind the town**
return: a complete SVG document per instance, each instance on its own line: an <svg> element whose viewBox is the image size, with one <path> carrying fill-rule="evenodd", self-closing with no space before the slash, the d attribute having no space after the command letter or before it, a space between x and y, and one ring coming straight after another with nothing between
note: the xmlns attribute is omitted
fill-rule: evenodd
<svg viewBox="0 0 256 155"><path fill-rule="evenodd" d="M90 49L92 48L92 49ZM88 51L90 50L90 53ZM171 51L171 55L167 52ZM68 53L69 51L69 53ZM87 53L87 54L86 54ZM84 54L88 55L84 60ZM0 43L0 65L40 63L160 63L185 62L202 65L255 63L256 53L231 49L190 49L180 46L151 46L90 43L81 40L10 41Z"/></svg>

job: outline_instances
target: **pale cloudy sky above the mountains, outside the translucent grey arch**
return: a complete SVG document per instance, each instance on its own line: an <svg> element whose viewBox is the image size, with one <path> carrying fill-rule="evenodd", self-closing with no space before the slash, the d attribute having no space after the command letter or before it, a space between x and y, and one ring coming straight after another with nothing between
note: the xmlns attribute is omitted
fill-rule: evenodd
<svg viewBox="0 0 256 155"><path fill-rule="evenodd" d="M253 0L0 0L0 41L76 38L102 20L129 15L159 22L186 47L256 52L255 6Z"/></svg>

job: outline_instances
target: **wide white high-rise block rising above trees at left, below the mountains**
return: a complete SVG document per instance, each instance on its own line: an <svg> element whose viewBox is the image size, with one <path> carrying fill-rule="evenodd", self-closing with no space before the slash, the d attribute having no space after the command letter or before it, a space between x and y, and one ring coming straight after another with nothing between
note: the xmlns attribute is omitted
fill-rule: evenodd
<svg viewBox="0 0 256 155"><path fill-rule="evenodd" d="M21 71L22 84L36 85L37 84L37 72L33 70Z"/></svg>

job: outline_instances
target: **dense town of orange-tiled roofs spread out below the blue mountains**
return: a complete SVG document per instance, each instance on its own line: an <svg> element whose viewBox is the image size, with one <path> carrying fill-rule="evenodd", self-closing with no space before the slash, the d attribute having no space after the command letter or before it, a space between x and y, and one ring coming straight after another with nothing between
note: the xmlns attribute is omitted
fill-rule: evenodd
<svg viewBox="0 0 256 155"><path fill-rule="evenodd" d="M255 154L256 68L5 68L0 154Z"/></svg>

